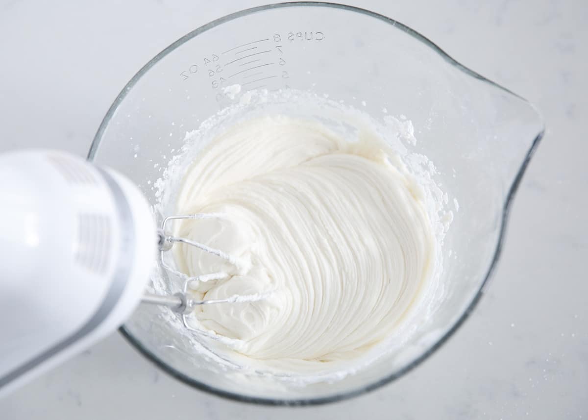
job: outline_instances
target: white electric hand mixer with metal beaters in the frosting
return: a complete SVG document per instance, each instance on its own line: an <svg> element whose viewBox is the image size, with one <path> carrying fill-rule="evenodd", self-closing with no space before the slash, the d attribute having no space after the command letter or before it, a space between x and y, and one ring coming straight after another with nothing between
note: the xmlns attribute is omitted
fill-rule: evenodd
<svg viewBox="0 0 588 420"><path fill-rule="evenodd" d="M140 301L186 314L197 305L251 301L259 296L195 300L189 285L224 279L190 277L163 254L183 243L232 264L219 249L156 229L145 198L118 172L73 155L22 151L0 155L0 395L81 352L118 328ZM184 280L175 295L146 294L159 248L164 269Z"/></svg>

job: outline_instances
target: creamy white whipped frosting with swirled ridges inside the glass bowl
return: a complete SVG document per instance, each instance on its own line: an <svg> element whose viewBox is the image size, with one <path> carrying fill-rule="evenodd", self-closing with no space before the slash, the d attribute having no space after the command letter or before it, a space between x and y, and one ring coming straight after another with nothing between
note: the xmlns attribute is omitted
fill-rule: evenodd
<svg viewBox="0 0 588 420"><path fill-rule="evenodd" d="M435 237L423 193L373 135L349 139L319 122L265 116L233 126L196 156L176 234L178 268L197 298L253 296L198 306L195 326L249 358L295 366L364 354L399 328L429 285ZM263 299L255 300L255 296Z"/></svg>

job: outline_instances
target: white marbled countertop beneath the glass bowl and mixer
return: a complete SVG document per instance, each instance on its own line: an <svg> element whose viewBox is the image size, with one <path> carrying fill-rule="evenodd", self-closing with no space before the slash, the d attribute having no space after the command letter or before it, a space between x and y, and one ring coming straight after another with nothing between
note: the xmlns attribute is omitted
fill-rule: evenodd
<svg viewBox="0 0 588 420"><path fill-rule="evenodd" d="M263 3L1 0L0 152L45 146L85 155L119 90L153 55L214 18ZM588 4L348 3L416 29L546 119L499 267L470 319L409 375L310 408L196 391L114 333L2 399L2 420L588 418Z"/></svg>

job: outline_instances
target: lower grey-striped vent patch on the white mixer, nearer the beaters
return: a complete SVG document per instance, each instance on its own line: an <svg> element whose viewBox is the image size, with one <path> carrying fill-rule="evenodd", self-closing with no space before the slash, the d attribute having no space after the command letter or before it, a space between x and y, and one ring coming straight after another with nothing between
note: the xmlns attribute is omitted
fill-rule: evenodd
<svg viewBox="0 0 588 420"><path fill-rule="evenodd" d="M109 263L111 219L103 214L78 214L78 246L75 260L89 271L104 274Z"/></svg>

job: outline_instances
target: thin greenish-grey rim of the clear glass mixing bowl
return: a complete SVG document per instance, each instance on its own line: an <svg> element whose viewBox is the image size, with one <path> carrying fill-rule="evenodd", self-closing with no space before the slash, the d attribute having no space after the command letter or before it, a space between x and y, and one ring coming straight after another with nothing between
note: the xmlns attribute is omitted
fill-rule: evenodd
<svg viewBox="0 0 588 420"><path fill-rule="evenodd" d="M437 54L442 56L442 58L445 59L445 61L449 62L450 65L455 66L455 68L459 69L460 71L463 71L467 75L470 75L476 79L480 79L481 81L486 82L487 84L495 86L496 88L502 89L503 91L507 92L510 95L516 96L517 98L522 99L522 101L527 102L527 104L529 104L529 106L532 106L534 108L534 106L532 104L530 104L530 102L526 101L526 99L520 97L519 95L516 95L513 92L509 91L509 89L506 89L503 86L500 86L500 85L496 84L495 82L492 82L492 81L486 79L482 75L477 74L476 72L470 70L469 68L463 66L462 64L459 64L459 62L455 61L455 59L453 59L449 55L447 55L441 48L439 48L439 46L434 44L432 41L427 39L425 36L419 34L418 32L414 31L413 29L410 29L408 26L403 25L400 22L397 22L397 21L390 19L386 16L377 14L375 12L368 11L366 9L361 9L361 8L357 8L354 6L348 6L348 5L342 5L342 4L335 4L335 3L325 3L325 2L277 3L277 4L269 4L269 5L256 6L253 8L244 9L242 11L235 12L233 14L226 15L226 16L223 16L222 18L219 18L219 19L216 19L212 22L209 22L208 24L200 26L198 29L195 29L194 31L190 32L189 34L182 36L182 38L178 39L178 41L173 42L173 44L169 45L167 48L163 49L163 51L161 51L158 55L153 57L151 59L151 61L149 61L145 66L143 66L143 68L141 68L137 72L137 74L135 74L133 76L131 81L129 81L128 84L126 84L126 86L122 89L121 93L119 93L119 95L116 97L116 99L113 102L113 104L111 105L111 107L108 109L108 112L106 112L106 115L102 119L102 122L98 128L98 131L96 132L96 135L94 136L94 139L92 141L92 145L91 145L90 150L88 152L88 160L93 161L93 158L96 154L96 151L98 151L98 147L100 145L102 135L103 135L106 127L108 126L112 116L115 114L116 109L118 109L118 106L121 104L122 99L125 98L127 93L136 84L136 82L138 82L138 80L147 71L149 71L149 69L153 65L155 65L157 62L159 62L163 57L168 55L174 49L178 48L180 45L184 44L185 42L189 41L190 39L195 38L195 36L202 34L203 32L208 31L209 29L215 28L216 26L221 25L225 22L232 21L233 19L238 19L242 16L253 14L255 12L265 11L268 9L279 9L279 8L300 7L300 6L343 9L346 11L371 16L372 18L376 18L376 19L379 19L380 21L386 22L387 24L394 26L396 29L400 29L401 31L404 31L407 35L412 36L413 38L422 42L423 44L425 44L429 48L433 49L433 51L435 51ZM537 111L537 114L540 115L538 111ZM505 231L506 231L506 222L507 222L507 216L508 216L508 212L509 212L509 208L510 208L510 203L512 202L513 196L515 195L515 193L517 191L517 188L518 188L520 181L523 177L524 171L527 168L527 165L529 164L529 161L532 158L533 153L537 148L537 145L539 145L539 142L543 137L543 133L544 133L544 129L542 128L541 131L539 133L537 133L536 137L533 139L533 143L530 146L529 150L527 151L527 154L524 157L522 164L520 165L519 171L517 172L515 179L513 180L512 184L510 185L510 188L507 192L505 204L502 208L502 216L501 216L501 220L500 220L500 232L499 232L499 238L498 238L497 244L496 244L495 254L493 255L492 262L490 263L490 268L488 269L488 272L486 273L486 276L483 279L482 283L480 284L480 287L477 290L472 301L467 305L467 308L465 309L463 314L460 315L459 319L457 319L457 321L455 321L455 323L452 326L450 326L450 328L445 332L445 334L443 334L443 336L437 342L435 342L435 344L430 346L430 348L427 349L427 351L425 351L422 355L418 356L415 360L410 362L410 364L403 366L401 369L393 372L392 374L387 375L385 378L379 379L379 380L377 380L367 386L362 386L358 389L353 389L352 391L341 392L336 395L319 397L319 398L278 399L278 398L260 398L260 397L255 397L255 396L241 395L241 394L236 394L234 392L223 391L222 389L218 389L213 386L206 385L203 382L196 381L195 379L191 378L190 376L183 374L182 372L176 370L172 366L169 366L168 364L166 364L166 362L162 361L150 349L143 346L141 340L136 338L135 336L133 336L132 333L125 327L125 325L121 326L119 331L142 355L146 356L146 358L151 360L155 365L159 366L159 368L161 368L163 371L167 372L169 375L173 376L174 378L178 379L179 381L183 382L184 384L193 386L194 388L201 389L202 391L206 391L206 392L211 392L212 394L222 396L224 398L232 399L235 401L249 402L249 403L263 404L263 405L283 405L283 406L318 405L318 404L325 404L328 402L342 401L343 399L348 399L353 396L362 395L362 394L365 394L366 392L373 391L374 389L379 388L380 386L386 385L389 382L392 382L395 379L398 379L401 376L405 375L407 372L411 371L413 368L420 365L421 362L425 361L425 359L427 359L430 355L435 353L437 351L437 349L439 349L443 344L445 344L447 339L449 339L449 337L452 336L453 333L455 333L457 331L457 329L459 329L459 327L463 324L463 322L467 319L469 314L476 307L477 303L480 301L480 298L483 295L484 288L485 288L487 282L489 281L490 276L492 276L492 274L494 272L494 269L496 267L496 263L500 257L500 252L502 251L502 244L503 244Z"/></svg>

